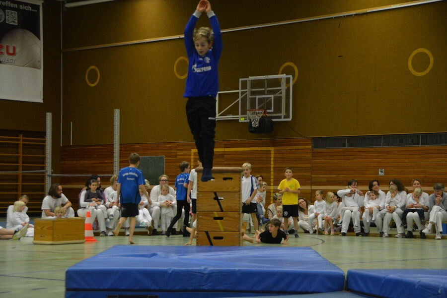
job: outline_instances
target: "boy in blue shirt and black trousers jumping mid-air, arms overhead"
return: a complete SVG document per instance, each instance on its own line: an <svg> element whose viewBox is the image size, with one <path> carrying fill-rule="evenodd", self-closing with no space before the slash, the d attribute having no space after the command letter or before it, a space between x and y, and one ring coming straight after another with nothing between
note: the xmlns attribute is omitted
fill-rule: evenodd
<svg viewBox="0 0 447 298"><path fill-rule="evenodd" d="M194 29L202 12L213 27ZM203 164L202 181L213 179L216 128L216 96L219 91L218 64L222 53L219 21L208 0L201 0L185 27L185 47L189 59L183 97L188 98L186 116Z"/></svg>

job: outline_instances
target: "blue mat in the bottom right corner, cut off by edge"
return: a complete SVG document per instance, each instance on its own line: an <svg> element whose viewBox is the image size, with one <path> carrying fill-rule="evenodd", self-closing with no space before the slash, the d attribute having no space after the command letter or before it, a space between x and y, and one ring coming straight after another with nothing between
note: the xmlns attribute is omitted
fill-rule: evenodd
<svg viewBox="0 0 447 298"><path fill-rule="evenodd" d="M446 269L351 269L348 290L372 297L446 298Z"/></svg>

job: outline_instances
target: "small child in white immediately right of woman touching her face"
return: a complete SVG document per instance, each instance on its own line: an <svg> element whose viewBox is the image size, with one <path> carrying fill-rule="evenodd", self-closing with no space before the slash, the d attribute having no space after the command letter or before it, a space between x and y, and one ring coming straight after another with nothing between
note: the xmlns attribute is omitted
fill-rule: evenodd
<svg viewBox="0 0 447 298"><path fill-rule="evenodd" d="M382 217L379 212L385 207L385 202L379 199L380 195L375 190L370 190L366 193L363 205L365 206L365 212L363 212L363 230L364 236L368 236L370 233L370 225L375 223L377 231L382 232Z"/></svg>

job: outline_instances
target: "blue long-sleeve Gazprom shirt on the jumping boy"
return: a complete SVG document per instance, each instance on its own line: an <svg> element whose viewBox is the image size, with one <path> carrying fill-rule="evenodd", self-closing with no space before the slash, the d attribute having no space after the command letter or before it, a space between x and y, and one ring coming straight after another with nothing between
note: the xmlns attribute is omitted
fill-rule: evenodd
<svg viewBox="0 0 447 298"><path fill-rule="evenodd" d="M183 97L213 96L219 91L218 64L222 54L221 28L217 16L213 11L208 12L213 29L213 48L205 56L200 56L194 46L194 26L199 19L197 11L191 16L185 27L185 47L188 55L188 77Z"/></svg>

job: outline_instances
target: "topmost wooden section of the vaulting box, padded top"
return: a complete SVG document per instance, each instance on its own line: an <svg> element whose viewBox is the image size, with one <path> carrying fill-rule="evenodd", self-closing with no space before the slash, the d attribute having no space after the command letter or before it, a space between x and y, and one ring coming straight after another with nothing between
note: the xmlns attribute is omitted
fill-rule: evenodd
<svg viewBox="0 0 447 298"><path fill-rule="evenodd" d="M196 168L197 173L202 173L203 168ZM240 192L242 168L213 168L214 180L197 181L197 193L204 191L229 191Z"/></svg>

